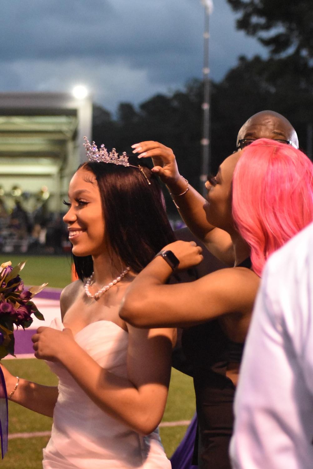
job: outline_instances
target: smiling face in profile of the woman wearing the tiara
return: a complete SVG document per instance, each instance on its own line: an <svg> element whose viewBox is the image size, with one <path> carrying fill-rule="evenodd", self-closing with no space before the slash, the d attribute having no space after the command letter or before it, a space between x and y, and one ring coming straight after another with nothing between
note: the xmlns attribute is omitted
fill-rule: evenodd
<svg viewBox="0 0 313 469"><path fill-rule="evenodd" d="M106 249L104 218L96 176L83 167L74 174L68 190L68 212L63 220L75 256L97 257Z"/></svg>

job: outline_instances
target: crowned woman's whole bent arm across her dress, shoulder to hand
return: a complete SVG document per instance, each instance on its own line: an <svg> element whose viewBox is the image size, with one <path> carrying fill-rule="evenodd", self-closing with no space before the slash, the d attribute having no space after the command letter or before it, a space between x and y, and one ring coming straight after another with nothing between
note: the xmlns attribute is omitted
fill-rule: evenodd
<svg viewBox="0 0 313 469"><path fill-rule="evenodd" d="M159 424L171 371L172 329L129 328L127 371L122 378L104 370L74 340L70 329L39 327L35 356L59 361L99 408L135 431L149 434Z"/></svg>

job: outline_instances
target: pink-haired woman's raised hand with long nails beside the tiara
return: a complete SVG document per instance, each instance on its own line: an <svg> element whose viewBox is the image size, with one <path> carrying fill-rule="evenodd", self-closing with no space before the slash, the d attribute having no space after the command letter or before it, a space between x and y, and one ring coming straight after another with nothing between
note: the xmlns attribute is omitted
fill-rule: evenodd
<svg viewBox="0 0 313 469"><path fill-rule="evenodd" d="M176 158L171 148L150 140L132 145L133 153L139 153L138 158L152 158L154 168L152 171L169 187L179 182L180 175Z"/></svg>

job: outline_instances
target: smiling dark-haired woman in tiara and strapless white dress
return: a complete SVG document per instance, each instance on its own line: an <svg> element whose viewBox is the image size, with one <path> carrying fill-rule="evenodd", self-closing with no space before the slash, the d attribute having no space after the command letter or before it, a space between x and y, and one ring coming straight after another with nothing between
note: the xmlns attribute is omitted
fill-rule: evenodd
<svg viewBox="0 0 313 469"><path fill-rule="evenodd" d="M85 141L89 161L70 182L64 216L80 280L61 294L62 322L32 339L59 386L21 378L16 387L3 369L7 390L15 389L11 401L53 416L45 469L170 469L157 425L174 330L137 329L118 311L138 272L175 237L151 170Z"/></svg>

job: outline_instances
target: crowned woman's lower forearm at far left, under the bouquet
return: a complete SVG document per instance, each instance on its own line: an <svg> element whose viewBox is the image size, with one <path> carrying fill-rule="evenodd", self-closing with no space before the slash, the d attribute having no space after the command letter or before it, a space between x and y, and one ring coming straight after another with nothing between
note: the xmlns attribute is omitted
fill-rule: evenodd
<svg viewBox="0 0 313 469"><path fill-rule="evenodd" d="M10 391L11 389L7 389L8 394ZM10 401L16 402L38 414L52 417L58 395L59 392L56 386L44 386L20 378Z"/></svg>

